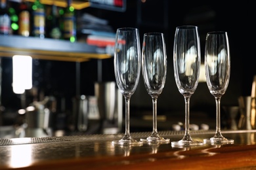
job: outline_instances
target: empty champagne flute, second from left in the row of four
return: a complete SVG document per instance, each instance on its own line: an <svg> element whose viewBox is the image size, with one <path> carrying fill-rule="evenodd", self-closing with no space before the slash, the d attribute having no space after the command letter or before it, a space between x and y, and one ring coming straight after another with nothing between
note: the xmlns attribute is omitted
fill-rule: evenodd
<svg viewBox="0 0 256 170"><path fill-rule="evenodd" d="M163 33L144 33L142 44L142 75L148 94L153 103L153 131L146 139L146 143L169 143L158 135L157 129L157 100L163 91L167 73L167 56Z"/></svg>

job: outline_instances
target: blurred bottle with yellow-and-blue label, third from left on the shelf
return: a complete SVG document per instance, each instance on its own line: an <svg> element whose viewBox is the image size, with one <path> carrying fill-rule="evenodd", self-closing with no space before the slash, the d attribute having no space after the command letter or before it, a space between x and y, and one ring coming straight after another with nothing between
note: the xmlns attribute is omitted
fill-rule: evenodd
<svg viewBox="0 0 256 170"><path fill-rule="evenodd" d="M35 0L32 5L33 10L33 36L41 39L45 38L45 6L39 1Z"/></svg>

